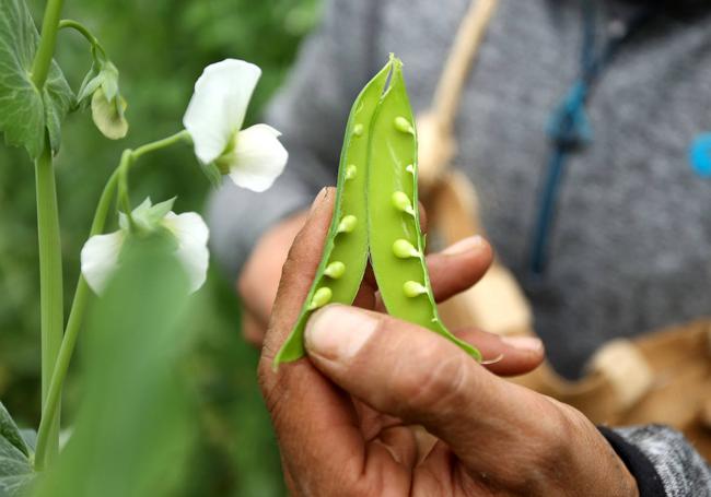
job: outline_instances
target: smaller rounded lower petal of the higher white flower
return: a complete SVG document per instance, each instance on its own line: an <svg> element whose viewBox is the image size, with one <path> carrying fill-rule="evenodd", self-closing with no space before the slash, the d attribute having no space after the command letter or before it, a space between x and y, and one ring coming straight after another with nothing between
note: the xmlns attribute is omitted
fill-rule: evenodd
<svg viewBox="0 0 711 497"><path fill-rule="evenodd" d="M281 133L267 125L255 125L237 134L231 154L230 178L238 187L265 191L284 170L289 153L278 137Z"/></svg>

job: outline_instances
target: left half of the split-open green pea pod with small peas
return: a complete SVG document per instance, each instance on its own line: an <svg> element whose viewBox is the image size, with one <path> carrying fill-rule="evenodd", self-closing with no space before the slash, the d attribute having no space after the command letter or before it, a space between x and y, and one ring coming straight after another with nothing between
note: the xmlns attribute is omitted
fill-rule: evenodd
<svg viewBox="0 0 711 497"><path fill-rule="evenodd" d="M350 305L360 288L368 263L365 180L369 131L391 66L388 62L365 85L351 108L338 169L334 216L322 261L296 324L275 358L275 366L304 355L304 328L315 309L328 303Z"/></svg>

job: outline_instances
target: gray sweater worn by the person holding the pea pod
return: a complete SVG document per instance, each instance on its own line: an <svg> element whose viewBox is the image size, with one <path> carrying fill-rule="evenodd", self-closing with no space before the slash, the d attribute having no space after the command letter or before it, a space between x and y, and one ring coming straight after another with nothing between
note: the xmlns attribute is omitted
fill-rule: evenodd
<svg viewBox="0 0 711 497"><path fill-rule="evenodd" d="M210 202L213 249L235 276L259 235L335 184L345 123L393 51L415 110L432 98L469 0L331 0L266 121L287 173L266 193L225 185ZM597 29L625 7L597 1ZM605 341L711 315L711 179L688 150L711 131L711 9L648 23L588 103L593 143L568 163L549 265L526 261L549 142L579 72L580 2L502 0L465 90L456 163L478 188L499 256L520 279L548 356L573 377ZM602 20L602 21L601 21ZM657 468L667 495L711 496L709 469L675 431L618 431Z"/></svg>

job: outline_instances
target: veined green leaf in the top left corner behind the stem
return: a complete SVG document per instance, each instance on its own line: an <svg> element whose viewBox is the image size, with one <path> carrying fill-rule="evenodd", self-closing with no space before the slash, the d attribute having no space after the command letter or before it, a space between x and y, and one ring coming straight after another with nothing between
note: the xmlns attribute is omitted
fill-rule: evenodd
<svg viewBox="0 0 711 497"><path fill-rule="evenodd" d="M24 146L32 158L45 146L59 149L61 121L73 95L59 66L53 61L42 93L31 79L39 34L23 0L0 0L0 131L5 142Z"/></svg>

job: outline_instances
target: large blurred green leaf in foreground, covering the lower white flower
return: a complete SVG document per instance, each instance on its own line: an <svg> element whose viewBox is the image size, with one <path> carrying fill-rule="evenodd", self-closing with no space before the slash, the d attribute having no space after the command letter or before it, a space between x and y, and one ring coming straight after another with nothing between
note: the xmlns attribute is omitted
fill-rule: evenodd
<svg viewBox="0 0 711 497"><path fill-rule="evenodd" d="M72 436L35 497L182 495L198 422L180 370L188 280L164 241L127 240L82 335Z"/></svg>

